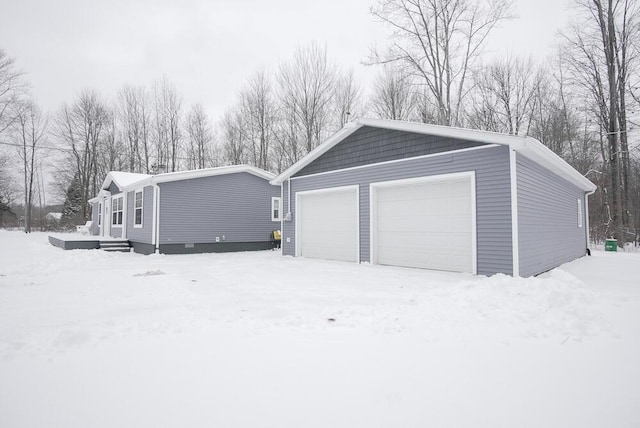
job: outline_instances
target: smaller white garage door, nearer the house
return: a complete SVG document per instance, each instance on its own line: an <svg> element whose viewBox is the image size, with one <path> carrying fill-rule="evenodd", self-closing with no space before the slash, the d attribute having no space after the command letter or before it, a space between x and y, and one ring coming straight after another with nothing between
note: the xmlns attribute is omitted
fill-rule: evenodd
<svg viewBox="0 0 640 428"><path fill-rule="evenodd" d="M296 195L297 255L358 261L357 187Z"/></svg>

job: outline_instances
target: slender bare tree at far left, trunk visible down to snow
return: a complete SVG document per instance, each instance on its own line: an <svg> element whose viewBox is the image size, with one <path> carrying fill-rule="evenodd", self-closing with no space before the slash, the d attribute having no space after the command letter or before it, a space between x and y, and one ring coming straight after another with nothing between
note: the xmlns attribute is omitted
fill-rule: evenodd
<svg viewBox="0 0 640 428"><path fill-rule="evenodd" d="M46 139L47 122L47 118L33 101L23 101L17 109L13 124L13 141L19 147L17 153L24 184L25 233L31 232L33 223L34 180L40 161L38 152Z"/></svg>

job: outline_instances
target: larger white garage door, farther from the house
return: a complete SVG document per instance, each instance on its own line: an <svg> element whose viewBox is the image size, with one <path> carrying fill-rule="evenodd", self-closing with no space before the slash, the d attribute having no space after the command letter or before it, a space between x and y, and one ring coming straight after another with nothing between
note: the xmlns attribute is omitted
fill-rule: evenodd
<svg viewBox="0 0 640 428"><path fill-rule="evenodd" d="M374 263L474 273L472 177L373 185Z"/></svg>

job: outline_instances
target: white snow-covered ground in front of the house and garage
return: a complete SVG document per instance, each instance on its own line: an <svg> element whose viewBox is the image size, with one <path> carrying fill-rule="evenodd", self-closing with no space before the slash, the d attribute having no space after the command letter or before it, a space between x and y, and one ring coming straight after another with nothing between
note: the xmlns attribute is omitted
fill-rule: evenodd
<svg viewBox="0 0 640 428"><path fill-rule="evenodd" d="M0 427L449 426L640 426L640 254L513 279L0 231Z"/></svg>

